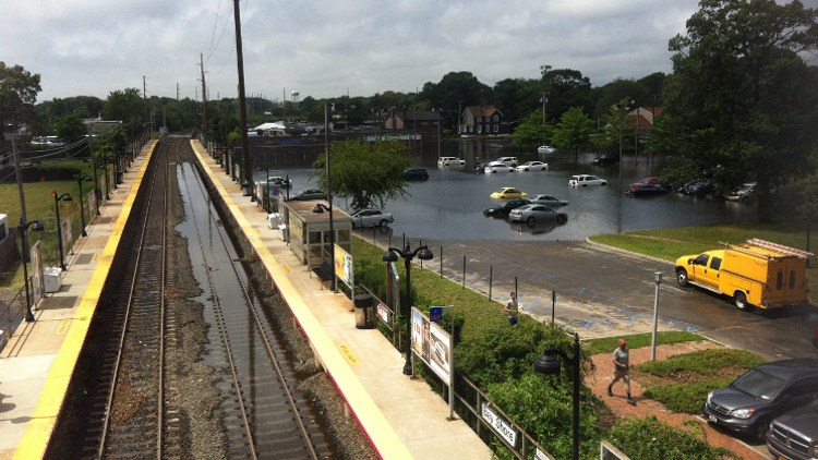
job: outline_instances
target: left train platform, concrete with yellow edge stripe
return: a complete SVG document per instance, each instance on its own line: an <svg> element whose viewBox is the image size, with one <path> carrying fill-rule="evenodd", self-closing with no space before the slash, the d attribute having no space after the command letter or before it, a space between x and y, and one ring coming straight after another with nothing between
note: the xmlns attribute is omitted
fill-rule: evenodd
<svg viewBox="0 0 818 460"><path fill-rule="evenodd" d="M87 222L65 255L61 286L33 310L0 353L0 460L39 459L82 350L97 298L119 244L119 235L136 196L136 186L156 141L131 162L123 182L101 202L99 216Z"/></svg>

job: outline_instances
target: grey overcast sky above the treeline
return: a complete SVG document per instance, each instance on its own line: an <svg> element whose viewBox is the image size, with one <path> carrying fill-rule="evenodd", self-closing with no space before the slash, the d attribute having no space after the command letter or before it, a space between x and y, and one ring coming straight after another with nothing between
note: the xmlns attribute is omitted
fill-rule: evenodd
<svg viewBox="0 0 818 460"><path fill-rule="evenodd" d="M818 0L805 4L815 7ZM414 92L448 72L493 86L575 69L593 86L671 72L667 41L698 0L241 0L248 95ZM41 76L37 101L143 88L236 97L231 0L3 2L0 60Z"/></svg>

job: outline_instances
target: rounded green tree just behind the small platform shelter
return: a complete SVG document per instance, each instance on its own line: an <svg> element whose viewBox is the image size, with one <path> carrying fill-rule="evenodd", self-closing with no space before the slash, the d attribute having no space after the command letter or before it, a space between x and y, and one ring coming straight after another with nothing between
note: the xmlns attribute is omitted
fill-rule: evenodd
<svg viewBox="0 0 818 460"><path fill-rule="evenodd" d="M383 204L388 198L404 196L407 183L404 171L412 166L409 148L399 141L334 144L330 152L332 194L351 199L353 210ZM315 161L311 178L326 190L326 157Z"/></svg>

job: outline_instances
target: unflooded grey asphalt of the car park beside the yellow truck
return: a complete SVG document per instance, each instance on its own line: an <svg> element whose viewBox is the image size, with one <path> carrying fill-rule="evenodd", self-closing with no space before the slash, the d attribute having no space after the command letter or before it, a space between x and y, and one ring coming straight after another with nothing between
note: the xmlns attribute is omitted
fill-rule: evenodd
<svg viewBox="0 0 818 460"><path fill-rule="evenodd" d="M363 237L372 239L372 230ZM385 238L378 235L378 239ZM385 244L383 240L381 244ZM412 247L417 240L409 241ZM769 360L816 358L818 308L748 313L727 296L681 288L673 264L586 241L514 242L423 240L435 255L424 267L502 303L517 285L520 311L541 320L570 324L580 338L653 330L659 288L659 330L687 330ZM400 244L393 238L393 246ZM441 258L441 250L443 258ZM464 257L466 269L464 271ZM554 305L553 292L556 293Z"/></svg>

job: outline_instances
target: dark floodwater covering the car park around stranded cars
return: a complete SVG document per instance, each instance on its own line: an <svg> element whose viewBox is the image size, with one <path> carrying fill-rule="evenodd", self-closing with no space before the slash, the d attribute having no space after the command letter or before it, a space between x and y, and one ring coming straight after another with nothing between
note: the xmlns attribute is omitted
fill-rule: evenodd
<svg viewBox="0 0 818 460"><path fill-rule="evenodd" d="M628 196L624 190L641 178L659 175L661 165L643 156L625 158L618 166L592 166L593 154L555 155L529 154L512 148L490 148L488 144L460 143L459 152L443 152L443 156L459 156L467 160L461 169L437 167L437 152L424 152L416 157L418 166L429 170L429 180L409 182L402 198L390 199L384 209L395 222L393 234L435 240L582 240L600 233L622 233L635 230L701 226L750 220L755 207L722 199L694 198L676 193L658 196ZM500 156L516 156L520 164L529 160L548 162L549 171L476 174L476 161L491 161ZM303 162L302 162L303 164ZM332 168L332 164L330 164ZM314 169L301 167L270 169L269 175L289 177L293 182L290 193L315 186L310 179ZM265 172L256 171L255 180ZM573 174L593 174L606 179L606 186L570 187ZM619 179L622 174L622 179ZM621 185L618 185L621 184ZM483 216L484 208L497 203L491 193L502 186L515 186L528 193L548 193L567 199L565 225L512 223ZM336 199L334 205L349 209L348 203Z"/></svg>

